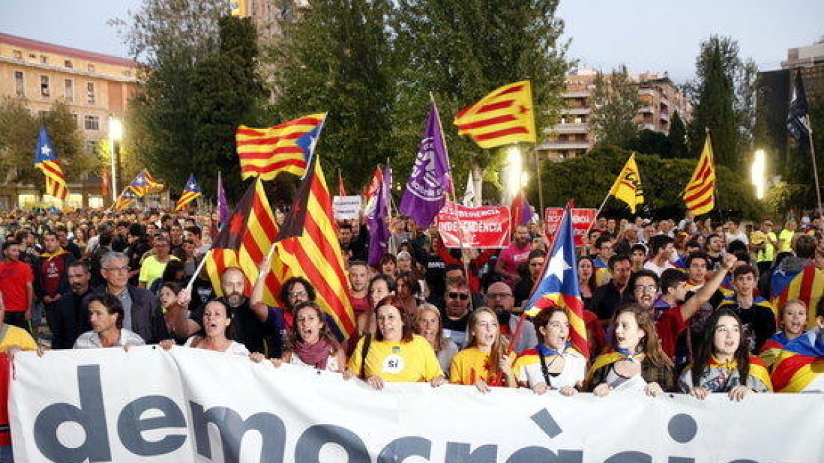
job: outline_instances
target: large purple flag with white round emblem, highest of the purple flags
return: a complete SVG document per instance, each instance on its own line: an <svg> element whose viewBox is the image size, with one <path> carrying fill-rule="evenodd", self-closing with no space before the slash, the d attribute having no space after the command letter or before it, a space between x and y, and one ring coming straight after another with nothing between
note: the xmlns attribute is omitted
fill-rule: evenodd
<svg viewBox="0 0 824 463"><path fill-rule="evenodd" d="M438 107L433 103L412 175L400 198L400 212L411 217L419 227L427 228L447 202L447 193L451 190L447 147L443 143Z"/></svg>

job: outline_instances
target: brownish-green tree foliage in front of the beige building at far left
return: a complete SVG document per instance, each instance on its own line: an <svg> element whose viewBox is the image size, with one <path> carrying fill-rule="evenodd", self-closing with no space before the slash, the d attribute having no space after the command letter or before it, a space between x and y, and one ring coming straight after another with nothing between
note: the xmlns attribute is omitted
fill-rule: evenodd
<svg viewBox="0 0 824 463"><path fill-rule="evenodd" d="M26 109L26 101L0 101L0 184L30 183L44 189L43 174L35 168L35 145L40 126L49 130L57 157L69 182L96 171L100 163L83 147L83 138L68 105L56 101L42 119Z"/></svg>

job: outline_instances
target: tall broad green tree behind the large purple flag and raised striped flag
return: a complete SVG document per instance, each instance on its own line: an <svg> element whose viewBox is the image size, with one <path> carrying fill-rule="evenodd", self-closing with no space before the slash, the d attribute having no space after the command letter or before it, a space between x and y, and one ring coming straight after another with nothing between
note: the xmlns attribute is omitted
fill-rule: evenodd
<svg viewBox="0 0 824 463"><path fill-rule="evenodd" d="M482 150L458 137L454 115L502 85L532 83L539 142L563 106L569 70L558 0L399 0L393 21L400 61L395 139L409 166L432 92L441 113L456 185L472 162L499 164L505 149ZM485 175L485 178L490 178Z"/></svg>

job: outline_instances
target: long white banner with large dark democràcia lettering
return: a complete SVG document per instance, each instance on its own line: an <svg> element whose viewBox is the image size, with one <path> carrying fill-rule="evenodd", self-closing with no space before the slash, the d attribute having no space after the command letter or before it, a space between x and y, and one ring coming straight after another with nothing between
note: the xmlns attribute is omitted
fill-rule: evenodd
<svg viewBox="0 0 824 463"><path fill-rule="evenodd" d="M16 461L813 462L824 395L631 393L390 384L200 349L21 353Z"/></svg>

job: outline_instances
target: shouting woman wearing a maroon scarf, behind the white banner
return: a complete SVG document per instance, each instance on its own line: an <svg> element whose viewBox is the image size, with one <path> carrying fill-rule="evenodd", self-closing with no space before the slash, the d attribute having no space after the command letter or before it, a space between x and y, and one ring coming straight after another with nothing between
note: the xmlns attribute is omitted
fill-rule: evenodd
<svg viewBox="0 0 824 463"><path fill-rule="evenodd" d="M295 307L295 320L289 330L286 352L279 362L315 367L318 370L341 372L346 365L346 353L323 321L323 311L315 302L301 302Z"/></svg>

